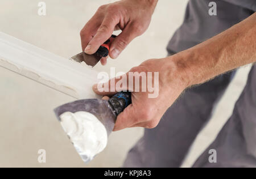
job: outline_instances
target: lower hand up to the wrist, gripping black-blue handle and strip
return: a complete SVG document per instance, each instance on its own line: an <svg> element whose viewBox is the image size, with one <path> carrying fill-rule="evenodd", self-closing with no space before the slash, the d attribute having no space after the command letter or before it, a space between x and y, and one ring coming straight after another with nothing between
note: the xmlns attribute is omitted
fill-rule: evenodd
<svg viewBox="0 0 256 179"><path fill-rule="evenodd" d="M159 95L154 98L149 98L148 94L153 92L142 92L142 79L139 84L139 92L131 93L132 104L127 106L125 110L117 117L117 122L115 123L114 131L125 129L126 127L145 127L153 128L158 125L160 118L162 118L164 112L174 103L174 101L179 97L180 93L183 92L188 86L188 82L185 78L185 73L182 68L176 66L176 57L168 57L163 59L150 59L143 62L141 65L134 67L129 72L158 72L159 78L152 79L159 80ZM129 72L126 73L126 79L129 79ZM147 76L147 80L150 78ZM122 78L115 78L115 84ZM150 78L151 80L151 78ZM152 84L155 84L155 82ZM111 80L110 80L111 81ZM110 81L108 82L108 87L110 91ZM133 80L133 83L135 80ZM148 83L148 81L147 81ZM103 99L108 100L107 96L111 96L118 91L123 90L133 90L129 87L129 82L127 82L127 87L121 87L121 89L115 88L115 92L100 92L98 90L98 85L93 86L94 92L98 95L105 96ZM105 84L106 85L106 84ZM156 87L155 87L156 88Z"/></svg>

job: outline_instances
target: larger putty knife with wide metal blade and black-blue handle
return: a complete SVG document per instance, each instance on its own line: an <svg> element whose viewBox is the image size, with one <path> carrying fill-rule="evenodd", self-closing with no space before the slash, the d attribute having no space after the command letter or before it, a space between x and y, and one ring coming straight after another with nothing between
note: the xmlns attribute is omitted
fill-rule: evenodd
<svg viewBox="0 0 256 179"><path fill-rule="evenodd" d="M120 114L129 104L131 104L131 93L119 92L109 100L86 99L67 103L56 108L54 112L60 122L60 116L65 112L89 112L96 116L97 119L105 126L109 136L113 131L118 114ZM76 151L79 153L83 161L86 163L90 161L89 157L81 154L81 151L77 150L77 148Z"/></svg>

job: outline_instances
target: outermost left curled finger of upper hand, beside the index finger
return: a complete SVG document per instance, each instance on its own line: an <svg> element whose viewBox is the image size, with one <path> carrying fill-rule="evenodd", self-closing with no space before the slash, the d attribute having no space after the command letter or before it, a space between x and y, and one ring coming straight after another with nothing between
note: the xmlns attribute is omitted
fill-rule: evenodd
<svg viewBox="0 0 256 179"><path fill-rule="evenodd" d="M100 18L100 16L95 14L92 19L90 19L88 23L84 25L84 28L82 28L80 32L82 51L85 50L88 43L93 39L93 36L96 34L97 29L102 23L102 20L103 19Z"/></svg>

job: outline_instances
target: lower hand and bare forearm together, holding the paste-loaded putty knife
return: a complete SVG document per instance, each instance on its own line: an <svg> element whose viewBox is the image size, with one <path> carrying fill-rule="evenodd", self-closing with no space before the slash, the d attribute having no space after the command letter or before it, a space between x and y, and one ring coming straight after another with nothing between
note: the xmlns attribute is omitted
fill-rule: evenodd
<svg viewBox="0 0 256 179"><path fill-rule="evenodd" d="M119 114L114 130L135 126L155 127L185 88L256 62L255 40L256 13L191 49L163 59L150 59L134 67L130 71L159 72L159 96L148 98L149 92L133 92L132 104ZM115 79L115 82L119 80ZM110 84L111 82L109 86ZM99 92L97 84L93 86L93 90L102 96L115 93Z"/></svg>

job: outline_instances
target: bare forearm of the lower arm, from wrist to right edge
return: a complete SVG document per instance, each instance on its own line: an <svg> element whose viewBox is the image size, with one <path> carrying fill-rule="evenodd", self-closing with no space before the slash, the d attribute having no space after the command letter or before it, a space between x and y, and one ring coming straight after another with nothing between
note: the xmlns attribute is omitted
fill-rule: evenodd
<svg viewBox="0 0 256 179"><path fill-rule="evenodd" d="M243 22L172 57L188 86L256 61L256 13Z"/></svg>

